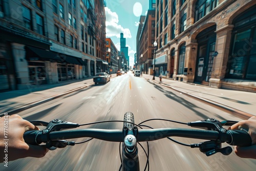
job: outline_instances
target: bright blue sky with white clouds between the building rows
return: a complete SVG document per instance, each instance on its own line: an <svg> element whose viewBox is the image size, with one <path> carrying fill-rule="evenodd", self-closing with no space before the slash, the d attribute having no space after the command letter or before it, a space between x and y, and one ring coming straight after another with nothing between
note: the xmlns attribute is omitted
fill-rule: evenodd
<svg viewBox="0 0 256 171"><path fill-rule="evenodd" d="M146 15L149 0L106 0L106 37L111 38L120 51L120 33L126 38L130 66L134 65L136 36L141 15Z"/></svg>

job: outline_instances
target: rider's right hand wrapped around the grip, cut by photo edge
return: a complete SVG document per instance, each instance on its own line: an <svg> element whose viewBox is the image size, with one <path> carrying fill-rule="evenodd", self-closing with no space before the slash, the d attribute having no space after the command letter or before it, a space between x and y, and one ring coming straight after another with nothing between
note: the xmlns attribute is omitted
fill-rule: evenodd
<svg viewBox="0 0 256 171"><path fill-rule="evenodd" d="M234 146L234 152L242 158L256 159L256 117L240 121L230 126L231 130L245 130L251 136L251 146Z"/></svg>

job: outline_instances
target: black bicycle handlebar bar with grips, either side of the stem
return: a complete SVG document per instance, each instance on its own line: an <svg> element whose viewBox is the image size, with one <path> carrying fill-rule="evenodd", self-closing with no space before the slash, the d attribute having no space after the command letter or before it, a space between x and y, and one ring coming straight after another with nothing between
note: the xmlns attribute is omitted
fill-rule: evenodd
<svg viewBox="0 0 256 171"><path fill-rule="evenodd" d="M245 131L227 130L225 133L220 133L218 131L181 128L138 130L137 142L155 141L173 136L204 140L220 140L221 142L227 142L230 145L238 146L251 145L250 135ZM48 141L82 137L91 137L112 142L123 142L124 140L122 130L83 129L50 132L49 134L45 134L44 131L28 131L24 134L25 142L32 145L39 145L42 142Z"/></svg>

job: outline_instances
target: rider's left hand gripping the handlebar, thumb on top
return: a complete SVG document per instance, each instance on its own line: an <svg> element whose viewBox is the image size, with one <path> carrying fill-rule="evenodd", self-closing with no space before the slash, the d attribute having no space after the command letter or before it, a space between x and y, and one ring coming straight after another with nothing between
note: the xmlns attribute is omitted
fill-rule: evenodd
<svg viewBox="0 0 256 171"><path fill-rule="evenodd" d="M8 127L6 127L6 125ZM23 135L26 131L30 130L39 129L18 115L8 116L8 119L7 115L0 117L0 162L6 161L6 154L8 161L25 157L39 158L46 155L48 152L47 148L25 143ZM7 135L8 137L4 137Z"/></svg>

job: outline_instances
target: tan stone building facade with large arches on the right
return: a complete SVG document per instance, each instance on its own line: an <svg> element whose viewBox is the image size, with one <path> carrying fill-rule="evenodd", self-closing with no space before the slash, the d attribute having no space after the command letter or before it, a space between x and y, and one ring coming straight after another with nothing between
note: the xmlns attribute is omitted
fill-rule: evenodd
<svg viewBox="0 0 256 171"><path fill-rule="evenodd" d="M255 9L249 0L157 0L157 74L256 92Z"/></svg>

